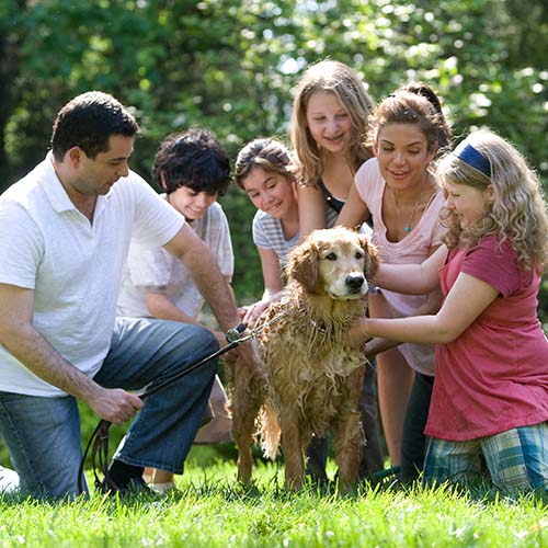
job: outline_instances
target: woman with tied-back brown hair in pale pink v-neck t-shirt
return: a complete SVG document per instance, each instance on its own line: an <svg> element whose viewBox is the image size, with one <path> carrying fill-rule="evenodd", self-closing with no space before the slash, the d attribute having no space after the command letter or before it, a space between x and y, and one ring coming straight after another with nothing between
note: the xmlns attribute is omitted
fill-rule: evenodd
<svg viewBox="0 0 548 548"><path fill-rule="evenodd" d="M438 215L445 198L431 162L447 145L448 133L439 100L421 83L398 89L372 117L375 158L357 171L338 222L354 227L370 215L373 241L385 262L422 263L442 243ZM369 311L374 318L407 317L430 306L427 299L381 290L369 298ZM378 393L388 450L393 465L401 463L401 478L411 481L424 461L434 346L402 344L388 350L388 344L378 343L369 343L366 353L380 352Z"/></svg>

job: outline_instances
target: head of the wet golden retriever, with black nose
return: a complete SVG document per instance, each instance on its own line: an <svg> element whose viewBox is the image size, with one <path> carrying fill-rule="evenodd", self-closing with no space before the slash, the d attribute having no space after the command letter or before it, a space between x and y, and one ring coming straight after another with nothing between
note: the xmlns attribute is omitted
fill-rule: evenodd
<svg viewBox="0 0 548 548"><path fill-rule="evenodd" d="M286 269L287 277L307 293L333 299L363 297L379 265L378 252L366 236L335 227L315 230L295 248Z"/></svg>

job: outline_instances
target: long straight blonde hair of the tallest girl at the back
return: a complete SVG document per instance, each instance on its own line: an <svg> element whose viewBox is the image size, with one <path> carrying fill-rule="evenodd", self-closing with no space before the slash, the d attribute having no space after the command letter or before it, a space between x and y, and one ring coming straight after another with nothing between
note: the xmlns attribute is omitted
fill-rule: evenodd
<svg viewBox="0 0 548 548"><path fill-rule="evenodd" d="M366 142L367 119L373 111L373 101L364 83L342 62L319 61L305 71L297 85L289 126L298 161L298 180L304 185L316 185L323 172L321 151L310 135L306 117L310 96L317 91L334 93L351 117L353 132L349 162L352 169L357 171L373 156Z"/></svg>

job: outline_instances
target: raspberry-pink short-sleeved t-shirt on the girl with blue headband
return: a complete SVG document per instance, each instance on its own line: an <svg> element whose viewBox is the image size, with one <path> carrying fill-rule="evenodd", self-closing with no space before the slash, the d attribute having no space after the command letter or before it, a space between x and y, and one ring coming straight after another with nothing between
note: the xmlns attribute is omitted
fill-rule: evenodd
<svg viewBox="0 0 548 548"><path fill-rule="evenodd" d="M540 276L517 267L509 241L487 237L452 251L439 270L447 296L460 272L500 295L455 341L436 345L425 433L469 441L548 420L548 341L537 318Z"/></svg>

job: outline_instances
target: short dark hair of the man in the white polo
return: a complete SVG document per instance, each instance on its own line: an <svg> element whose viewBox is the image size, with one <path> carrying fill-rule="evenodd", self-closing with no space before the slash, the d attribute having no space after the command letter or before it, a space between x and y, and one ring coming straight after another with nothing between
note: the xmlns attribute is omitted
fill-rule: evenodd
<svg viewBox="0 0 548 548"><path fill-rule="evenodd" d="M133 137L138 130L133 115L116 99L102 91L88 91L58 112L52 133L52 150L58 162L72 147L80 147L88 158L95 158L109 150L111 135Z"/></svg>

